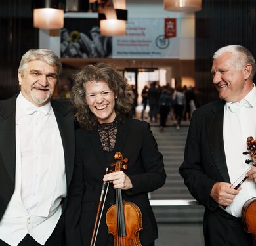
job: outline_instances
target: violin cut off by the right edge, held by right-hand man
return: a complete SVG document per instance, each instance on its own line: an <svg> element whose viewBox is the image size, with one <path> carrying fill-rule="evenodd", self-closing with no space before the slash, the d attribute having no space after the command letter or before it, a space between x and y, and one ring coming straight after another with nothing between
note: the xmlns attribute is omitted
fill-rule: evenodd
<svg viewBox="0 0 256 246"><path fill-rule="evenodd" d="M244 154L251 154L251 160L246 160L246 163L253 162L253 166L256 165L256 141L253 137L247 138L247 150ZM247 178L247 177L246 177ZM244 178L245 179L245 178ZM244 203L242 207L242 220L245 224L245 231L252 234L253 245L256 245L256 197L253 197Z"/></svg>

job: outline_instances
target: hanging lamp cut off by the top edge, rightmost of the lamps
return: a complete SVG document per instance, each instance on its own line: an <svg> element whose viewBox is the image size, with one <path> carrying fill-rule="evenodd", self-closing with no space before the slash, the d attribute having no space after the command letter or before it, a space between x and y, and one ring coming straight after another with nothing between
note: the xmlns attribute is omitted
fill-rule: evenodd
<svg viewBox="0 0 256 246"><path fill-rule="evenodd" d="M171 12L196 12L202 9L202 0L164 0L163 6Z"/></svg>

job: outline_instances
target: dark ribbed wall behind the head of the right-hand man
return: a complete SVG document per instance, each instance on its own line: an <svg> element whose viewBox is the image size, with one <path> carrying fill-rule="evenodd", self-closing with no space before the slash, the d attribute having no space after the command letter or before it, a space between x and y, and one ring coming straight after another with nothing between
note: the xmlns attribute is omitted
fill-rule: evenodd
<svg viewBox="0 0 256 246"><path fill-rule="evenodd" d="M217 99L211 76L212 56L226 45L243 45L256 58L256 1L203 0L196 12L195 77L198 104Z"/></svg>

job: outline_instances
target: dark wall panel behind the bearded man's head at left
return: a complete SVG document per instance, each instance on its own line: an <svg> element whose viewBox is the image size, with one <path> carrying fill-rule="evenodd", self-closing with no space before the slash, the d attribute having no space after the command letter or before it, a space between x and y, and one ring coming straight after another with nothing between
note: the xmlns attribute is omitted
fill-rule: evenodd
<svg viewBox="0 0 256 246"><path fill-rule="evenodd" d="M1 0L0 100L19 91L18 64L22 54L38 47L30 0Z"/></svg>

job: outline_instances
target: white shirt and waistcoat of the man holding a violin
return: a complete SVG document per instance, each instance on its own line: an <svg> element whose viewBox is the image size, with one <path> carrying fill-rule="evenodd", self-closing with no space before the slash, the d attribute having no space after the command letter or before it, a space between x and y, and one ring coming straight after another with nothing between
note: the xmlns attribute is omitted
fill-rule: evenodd
<svg viewBox="0 0 256 246"><path fill-rule="evenodd" d="M244 105L236 107L234 104L234 102L227 102L224 107L223 136L230 182L236 186L243 180L251 167L251 164L245 163L246 159L251 159L250 155L243 155L242 152L247 151L247 138L249 136L256 140L255 85L240 102L240 104ZM226 212L236 217L241 217L245 201L256 197L255 182L245 180L240 187L242 190L236 195L233 203L226 207Z"/></svg>

